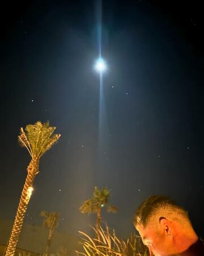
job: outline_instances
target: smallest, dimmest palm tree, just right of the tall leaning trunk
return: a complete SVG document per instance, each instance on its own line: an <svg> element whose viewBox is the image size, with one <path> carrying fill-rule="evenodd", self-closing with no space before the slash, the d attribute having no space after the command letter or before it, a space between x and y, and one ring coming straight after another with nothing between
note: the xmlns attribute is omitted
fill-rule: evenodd
<svg viewBox="0 0 204 256"><path fill-rule="evenodd" d="M42 211L40 213L41 217L44 217L44 221L42 222L42 226L49 228L48 241L45 247L45 255L49 255L50 244L53 236L54 229L58 226L59 223L59 213L58 212L45 212Z"/></svg>

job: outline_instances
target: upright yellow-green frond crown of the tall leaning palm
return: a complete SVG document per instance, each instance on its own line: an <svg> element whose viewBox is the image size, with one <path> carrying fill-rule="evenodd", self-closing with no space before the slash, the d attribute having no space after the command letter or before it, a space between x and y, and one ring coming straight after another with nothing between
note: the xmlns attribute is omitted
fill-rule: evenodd
<svg viewBox="0 0 204 256"><path fill-rule="evenodd" d="M20 128L18 141L22 147L26 147L32 159L40 157L48 151L61 136L54 134L56 127L50 127L49 122L36 122L34 125L27 125L25 131Z"/></svg>

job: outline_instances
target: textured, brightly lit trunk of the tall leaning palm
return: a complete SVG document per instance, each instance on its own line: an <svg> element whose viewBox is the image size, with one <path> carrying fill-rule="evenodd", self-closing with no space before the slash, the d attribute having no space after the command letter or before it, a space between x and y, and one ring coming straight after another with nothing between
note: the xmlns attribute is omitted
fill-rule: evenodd
<svg viewBox="0 0 204 256"><path fill-rule="evenodd" d="M22 229L23 220L28 207L29 199L32 193L32 185L36 174L39 172L39 160L32 159L27 168L28 174L23 186L22 195L16 212L14 225L11 231L11 236L8 241L5 256L12 256L15 254L16 245L18 243L20 231Z"/></svg>

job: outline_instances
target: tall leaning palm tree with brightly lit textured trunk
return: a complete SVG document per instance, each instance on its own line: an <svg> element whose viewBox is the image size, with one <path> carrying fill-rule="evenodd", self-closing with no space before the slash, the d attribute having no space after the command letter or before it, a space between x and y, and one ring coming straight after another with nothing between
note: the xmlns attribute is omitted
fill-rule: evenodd
<svg viewBox="0 0 204 256"><path fill-rule="evenodd" d="M6 249L6 256L14 255L18 243L20 231L22 229L25 212L33 190L35 176L39 173L39 162L41 156L48 151L61 136L54 134L56 127L50 127L49 122L36 122L34 125L27 125L25 131L20 128L18 141L22 147L27 148L31 155L31 162L27 167L27 177L25 179L22 195L15 216L11 236Z"/></svg>

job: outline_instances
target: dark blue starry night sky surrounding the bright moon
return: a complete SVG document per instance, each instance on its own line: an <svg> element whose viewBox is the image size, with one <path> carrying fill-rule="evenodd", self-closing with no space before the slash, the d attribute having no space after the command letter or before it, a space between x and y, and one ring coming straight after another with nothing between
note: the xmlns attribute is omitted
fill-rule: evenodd
<svg viewBox="0 0 204 256"><path fill-rule="evenodd" d="M94 218L78 208L97 185L112 189L118 213L104 220L122 237L154 194L188 209L204 236L202 8L186 2L104 1L100 116L99 2L2 8L1 218L14 218L29 163L19 128L49 120L62 137L41 159L26 221L57 210L59 229L88 230Z"/></svg>

